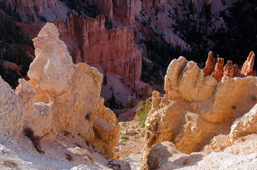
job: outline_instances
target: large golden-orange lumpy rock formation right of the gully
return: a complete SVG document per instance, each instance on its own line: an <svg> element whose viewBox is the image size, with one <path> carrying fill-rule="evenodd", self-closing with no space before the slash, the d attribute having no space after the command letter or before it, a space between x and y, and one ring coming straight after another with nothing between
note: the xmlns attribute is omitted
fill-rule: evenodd
<svg viewBox="0 0 257 170"><path fill-rule="evenodd" d="M256 83L257 77L224 76L218 84L213 77L204 77L193 61L174 59L165 76L164 98L156 91L152 95L140 169L148 168L150 149L162 141L170 141L178 151L190 154L200 151L214 136L229 134L233 120L256 105ZM255 127L249 128L252 132Z"/></svg>

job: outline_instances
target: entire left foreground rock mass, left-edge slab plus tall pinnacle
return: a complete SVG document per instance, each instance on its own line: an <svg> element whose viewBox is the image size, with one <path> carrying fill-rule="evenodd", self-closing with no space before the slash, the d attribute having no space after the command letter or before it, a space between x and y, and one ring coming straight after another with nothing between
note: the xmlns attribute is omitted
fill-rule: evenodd
<svg viewBox="0 0 257 170"><path fill-rule="evenodd" d="M1 135L17 137L22 127L50 140L66 133L116 158L113 148L120 127L100 97L103 76L85 63L73 64L58 36L55 25L47 23L33 39L36 57L29 67L30 80L19 79L16 93L0 79L5 96L0 98L5 106L0 120L2 129L9 129Z"/></svg>

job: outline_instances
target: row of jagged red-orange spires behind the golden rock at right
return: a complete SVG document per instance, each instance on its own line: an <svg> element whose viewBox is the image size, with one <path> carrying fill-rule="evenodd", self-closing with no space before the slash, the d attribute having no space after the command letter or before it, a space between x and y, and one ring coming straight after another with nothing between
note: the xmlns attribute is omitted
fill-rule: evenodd
<svg viewBox="0 0 257 170"><path fill-rule="evenodd" d="M244 62L241 71L240 69L238 69L238 65L233 65L233 62L230 60L228 60L226 65L223 67L224 59L219 57L217 57L217 59L212 58L212 51L210 51L208 53L208 59L205 64L206 66L203 69L204 77L211 75L219 83L223 76L228 76L229 78L243 78L248 75L256 76L256 71L253 70L254 57L254 52L250 52L249 56L247 57L247 60Z"/></svg>

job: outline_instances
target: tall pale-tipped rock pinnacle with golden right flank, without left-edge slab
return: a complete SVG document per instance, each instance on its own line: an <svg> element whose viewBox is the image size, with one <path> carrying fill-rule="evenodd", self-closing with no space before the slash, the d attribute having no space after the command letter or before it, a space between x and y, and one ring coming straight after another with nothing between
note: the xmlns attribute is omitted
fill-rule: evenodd
<svg viewBox="0 0 257 170"><path fill-rule="evenodd" d="M47 23L33 39L36 58L30 65L28 83L35 91L35 109L50 107L56 131L89 141L108 157L116 145L120 127L114 113L100 97L102 74L84 63L72 63L58 29ZM43 102L43 103L40 103Z"/></svg>

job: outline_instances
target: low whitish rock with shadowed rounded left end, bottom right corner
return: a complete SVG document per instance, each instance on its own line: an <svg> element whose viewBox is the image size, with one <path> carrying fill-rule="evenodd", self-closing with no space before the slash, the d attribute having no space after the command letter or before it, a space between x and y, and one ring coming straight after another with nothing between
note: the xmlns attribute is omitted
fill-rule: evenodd
<svg viewBox="0 0 257 170"><path fill-rule="evenodd" d="M235 155L226 152L182 154L170 142L162 142L154 146L149 154L150 169L255 169L257 154ZM172 143L171 143L172 144ZM156 151L160 148L161 151ZM163 153L163 154L162 154ZM158 162L157 160L160 160Z"/></svg>

